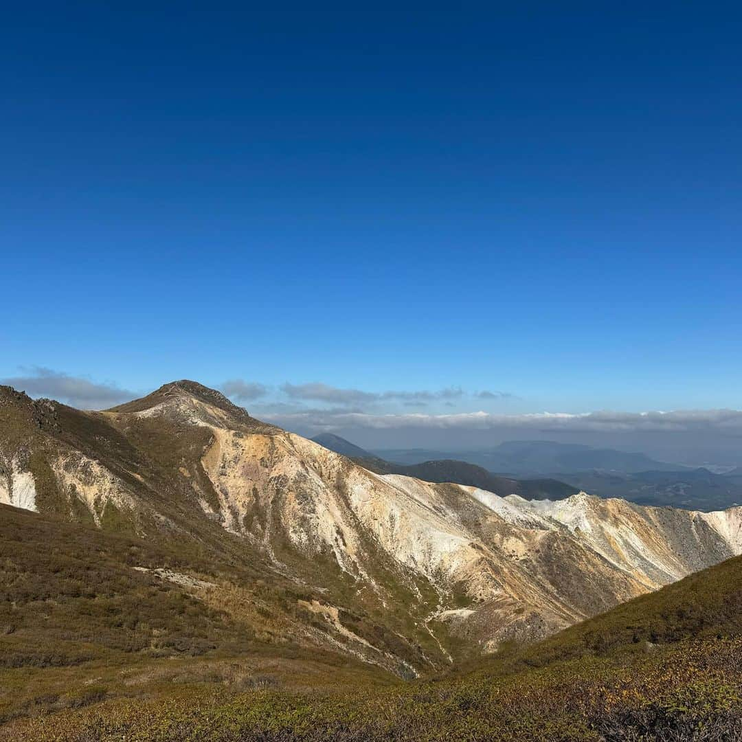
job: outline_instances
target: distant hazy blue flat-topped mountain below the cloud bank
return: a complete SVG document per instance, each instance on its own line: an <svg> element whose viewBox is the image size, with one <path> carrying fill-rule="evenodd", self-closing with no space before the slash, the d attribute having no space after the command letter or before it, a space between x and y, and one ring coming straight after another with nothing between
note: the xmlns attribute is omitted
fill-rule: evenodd
<svg viewBox="0 0 742 742"><path fill-rule="evenodd" d="M553 476L591 469L634 473L646 470L677 471L686 467L654 461L643 453L626 453L610 448L593 448L582 444L554 441L507 441L492 450L434 452L430 450L384 450L378 456L404 464L427 459L463 459L488 471L507 472L516 476Z"/></svg>

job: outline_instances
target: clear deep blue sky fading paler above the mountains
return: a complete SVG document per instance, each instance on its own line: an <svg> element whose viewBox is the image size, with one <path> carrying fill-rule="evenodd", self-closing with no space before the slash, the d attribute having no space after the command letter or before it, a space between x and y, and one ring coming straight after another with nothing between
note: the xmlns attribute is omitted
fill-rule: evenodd
<svg viewBox="0 0 742 742"><path fill-rule="evenodd" d="M714 3L7 10L0 378L742 407L741 33Z"/></svg>

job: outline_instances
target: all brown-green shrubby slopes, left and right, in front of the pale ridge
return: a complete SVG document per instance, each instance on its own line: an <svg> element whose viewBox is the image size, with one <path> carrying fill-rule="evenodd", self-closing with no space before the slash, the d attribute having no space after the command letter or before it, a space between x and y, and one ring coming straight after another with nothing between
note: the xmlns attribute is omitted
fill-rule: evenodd
<svg viewBox="0 0 742 742"><path fill-rule="evenodd" d="M3 740L710 742L742 734L740 558L539 644L502 647L468 672L402 683L258 636L229 605L128 569L168 565L224 579L197 555L104 542L92 530L81 540L65 525L53 526L64 533L48 548L38 516L2 515L2 585L12 598L0 621ZM47 579L13 568L19 527L33 572ZM29 544L33 533L39 540ZM288 609L285 616L290 623ZM275 630L275 617L268 626Z"/></svg>

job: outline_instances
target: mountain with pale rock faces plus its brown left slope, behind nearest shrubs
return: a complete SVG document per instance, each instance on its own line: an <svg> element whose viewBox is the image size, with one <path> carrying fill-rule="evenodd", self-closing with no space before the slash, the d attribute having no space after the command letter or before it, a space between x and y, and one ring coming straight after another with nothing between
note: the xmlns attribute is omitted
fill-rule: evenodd
<svg viewBox="0 0 742 742"><path fill-rule="evenodd" d="M103 412L0 387L0 502L0 720L433 674L742 552L739 508L374 473L193 381Z"/></svg>

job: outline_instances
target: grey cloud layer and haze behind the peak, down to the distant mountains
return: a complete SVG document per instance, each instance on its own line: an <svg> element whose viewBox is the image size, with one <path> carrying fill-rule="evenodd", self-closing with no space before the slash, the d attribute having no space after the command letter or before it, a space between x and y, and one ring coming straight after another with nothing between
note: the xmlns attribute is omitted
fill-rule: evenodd
<svg viewBox="0 0 742 742"><path fill-rule="evenodd" d="M21 368L0 384L83 410L114 407L146 393L46 367ZM375 392L320 381L270 386L232 378L219 388L257 418L303 435L339 433L369 448L462 450L505 440L551 439L644 450L663 460L682 455L692 465L707 460L742 465L741 410L516 414L477 409L507 410L511 400L518 399L510 393L457 386ZM522 408L525 401L518 404Z"/></svg>

